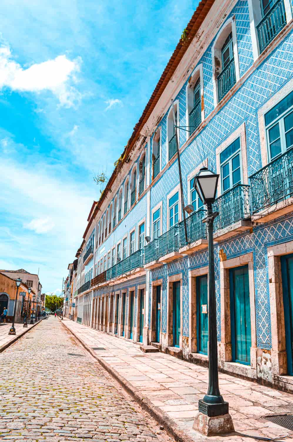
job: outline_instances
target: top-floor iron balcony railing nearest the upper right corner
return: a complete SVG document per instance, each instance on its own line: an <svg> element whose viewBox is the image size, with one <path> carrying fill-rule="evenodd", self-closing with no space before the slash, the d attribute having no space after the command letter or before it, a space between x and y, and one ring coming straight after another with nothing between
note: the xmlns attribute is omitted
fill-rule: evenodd
<svg viewBox="0 0 293 442"><path fill-rule="evenodd" d="M286 25L284 0L278 0L256 26L260 53L274 40Z"/></svg>

